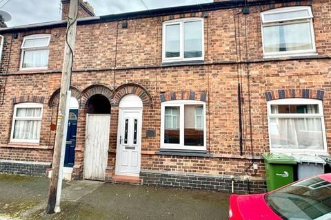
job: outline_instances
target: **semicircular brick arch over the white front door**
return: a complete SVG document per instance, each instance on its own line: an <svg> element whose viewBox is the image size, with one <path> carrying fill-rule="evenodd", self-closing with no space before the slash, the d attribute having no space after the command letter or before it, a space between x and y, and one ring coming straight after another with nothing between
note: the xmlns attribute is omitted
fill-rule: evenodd
<svg viewBox="0 0 331 220"><path fill-rule="evenodd" d="M118 107L121 99L128 94L135 94L139 96L143 102L143 107L152 107L152 96L146 87L143 87L138 83L126 83L117 87L114 91L114 99L111 102L112 106Z"/></svg>

